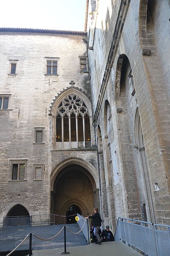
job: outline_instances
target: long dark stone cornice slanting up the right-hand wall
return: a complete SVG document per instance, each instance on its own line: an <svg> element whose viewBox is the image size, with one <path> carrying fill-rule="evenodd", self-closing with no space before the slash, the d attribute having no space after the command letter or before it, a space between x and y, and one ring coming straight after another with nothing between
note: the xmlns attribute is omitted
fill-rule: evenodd
<svg viewBox="0 0 170 256"><path fill-rule="evenodd" d="M127 15L127 10L130 4L130 0L122 0L121 4L120 4L120 8L119 8L119 14L116 20L116 26L114 29L114 34L113 34L113 39L112 39L112 43L111 43L111 48L109 51L109 55L108 55L108 61L105 67L105 73L102 79L102 85L100 88L100 93L99 93L99 98L98 98L98 102L97 102L97 106L96 106L96 111L94 114L94 120L93 120L93 125L96 125L98 116L99 116L99 112L102 106L102 101L105 95L105 90L107 88L108 85L108 80L111 74L111 69L113 66L113 62L115 60L116 57L116 52L117 52L117 48L119 45L119 41L120 41L120 37L122 34L122 29L125 23L125 18Z"/></svg>

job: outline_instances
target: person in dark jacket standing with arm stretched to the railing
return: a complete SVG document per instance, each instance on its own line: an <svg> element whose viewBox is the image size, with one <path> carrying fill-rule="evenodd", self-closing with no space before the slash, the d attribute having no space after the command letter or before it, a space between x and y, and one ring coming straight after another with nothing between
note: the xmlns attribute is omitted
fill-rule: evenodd
<svg viewBox="0 0 170 256"><path fill-rule="evenodd" d="M93 211L94 211L94 215L88 216L86 218L92 218L93 219L93 225L94 225L94 229L95 229L94 235L97 238L97 242L95 244L102 244L102 239L100 238L99 233L98 233L99 228L101 227L101 218L100 218L100 215L99 215L99 212L98 212L99 209L94 208Z"/></svg>

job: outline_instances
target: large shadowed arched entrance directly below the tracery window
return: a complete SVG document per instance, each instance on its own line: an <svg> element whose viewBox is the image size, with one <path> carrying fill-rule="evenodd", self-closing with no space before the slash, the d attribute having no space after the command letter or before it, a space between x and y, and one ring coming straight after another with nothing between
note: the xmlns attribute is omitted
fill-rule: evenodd
<svg viewBox="0 0 170 256"><path fill-rule="evenodd" d="M56 224L75 223L77 213L87 216L96 205L98 191L94 178L77 164L66 166L59 172L53 189L51 213L55 214Z"/></svg>

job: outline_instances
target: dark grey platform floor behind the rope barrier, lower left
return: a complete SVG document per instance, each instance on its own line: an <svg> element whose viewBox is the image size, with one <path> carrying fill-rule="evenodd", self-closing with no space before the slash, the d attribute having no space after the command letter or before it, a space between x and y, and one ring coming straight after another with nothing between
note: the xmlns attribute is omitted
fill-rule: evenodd
<svg viewBox="0 0 170 256"><path fill-rule="evenodd" d="M78 224L67 224L74 233L79 232ZM13 250L29 233L48 239L53 237L61 230L63 224L38 227L3 227L0 229L0 252L9 252ZM66 233L67 246L87 245L84 235L80 232L74 235L70 232ZM43 241L32 236L32 250L56 249L64 247L64 231L62 231L54 239ZM24 241L17 250L28 250L29 239Z"/></svg>

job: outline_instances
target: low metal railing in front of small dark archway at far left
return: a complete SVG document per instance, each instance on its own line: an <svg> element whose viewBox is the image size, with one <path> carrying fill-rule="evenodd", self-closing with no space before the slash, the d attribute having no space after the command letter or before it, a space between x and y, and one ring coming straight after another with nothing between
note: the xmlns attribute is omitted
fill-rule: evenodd
<svg viewBox="0 0 170 256"><path fill-rule="evenodd" d="M54 214L9 216L3 218L3 227L54 225Z"/></svg>

